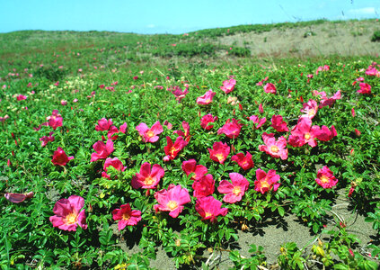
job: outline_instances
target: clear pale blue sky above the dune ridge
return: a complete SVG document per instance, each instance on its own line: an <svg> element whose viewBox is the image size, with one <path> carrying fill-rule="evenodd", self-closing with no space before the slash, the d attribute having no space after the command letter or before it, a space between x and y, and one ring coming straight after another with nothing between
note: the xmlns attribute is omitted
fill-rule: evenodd
<svg viewBox="0 0 380 270"><path fill-rule="evenodd" d="M379 18L380 0L2 0L0 32L184 33L239 24Z"/></svg>

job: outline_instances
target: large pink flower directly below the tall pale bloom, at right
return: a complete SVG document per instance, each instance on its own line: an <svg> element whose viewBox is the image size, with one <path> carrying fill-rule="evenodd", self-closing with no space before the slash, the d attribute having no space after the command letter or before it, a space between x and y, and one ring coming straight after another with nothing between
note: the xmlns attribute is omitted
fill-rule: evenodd
<svg viewBox="0 0 380 270"><path fill-rule="evenodd" d="M317 135L320 134L318 126L312 127L312 121L309 118L301 117L298 119L298 123L291 130L288 142L293 147L302 147L306 143L312 148L316 147Z"/></svg>

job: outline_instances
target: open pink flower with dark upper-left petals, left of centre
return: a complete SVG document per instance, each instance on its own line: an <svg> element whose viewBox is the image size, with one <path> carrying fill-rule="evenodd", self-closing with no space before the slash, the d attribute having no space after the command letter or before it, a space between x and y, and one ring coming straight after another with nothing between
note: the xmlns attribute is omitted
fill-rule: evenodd
<svg viewBox="0 0 380 270"><path fill-rule="evenodd" d="M132 187L136 189L153 189L160 182L164 174L162 166L155 164L152 166L151 170L150 163L146 162L141 165L140 173L133 176L131 183Z"/></svg>

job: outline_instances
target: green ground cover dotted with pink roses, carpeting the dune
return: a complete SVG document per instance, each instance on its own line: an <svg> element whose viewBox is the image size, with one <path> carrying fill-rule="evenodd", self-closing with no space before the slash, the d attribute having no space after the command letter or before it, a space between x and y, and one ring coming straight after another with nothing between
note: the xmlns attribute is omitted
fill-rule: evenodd
<svg viewBox="0 0 380 270"><path fill-rule="evenodd" d="M2 37L2 268L144 269L162 247L176 267L229 250L232 267L265 269L238 232L289 214L315 238L283 243L277 267L377 268L378 58L221 65L191 35L79 33L75 48L54 32L38 49L41 34ZM333 211L340 193L372 243Z"/></svg>

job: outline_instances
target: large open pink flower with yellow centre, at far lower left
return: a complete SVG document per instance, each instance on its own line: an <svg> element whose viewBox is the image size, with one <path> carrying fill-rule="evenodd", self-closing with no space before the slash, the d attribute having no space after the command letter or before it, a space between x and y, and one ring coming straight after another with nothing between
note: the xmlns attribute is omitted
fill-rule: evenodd
<svg viewBox="0 0 380 270"><path fill-rule="evenodd" d="M68 199L60 199L54 205L53 212L54 216L49 218L53 227L58 229L75 231L78 225L83 229L87 229L87 224L85 222L85 210L84 208L84 198L77 195L71 195Z"/></svg>

